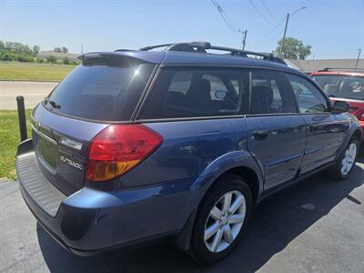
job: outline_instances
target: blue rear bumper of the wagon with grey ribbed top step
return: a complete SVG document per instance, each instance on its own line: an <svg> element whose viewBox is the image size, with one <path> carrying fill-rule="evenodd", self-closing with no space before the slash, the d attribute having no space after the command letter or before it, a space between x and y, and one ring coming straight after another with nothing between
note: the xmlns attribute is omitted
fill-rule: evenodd
<svg viewBox="0 0 364 273"><path fill-rule="evenodd" d="M31 140L18 147L16 171L25 203L41 226L78 255L177 238L195 203L189 190L170 185L122 191L84 187L66 197L45 183ZM47 204L53 203L50 210Z"/></svg>

